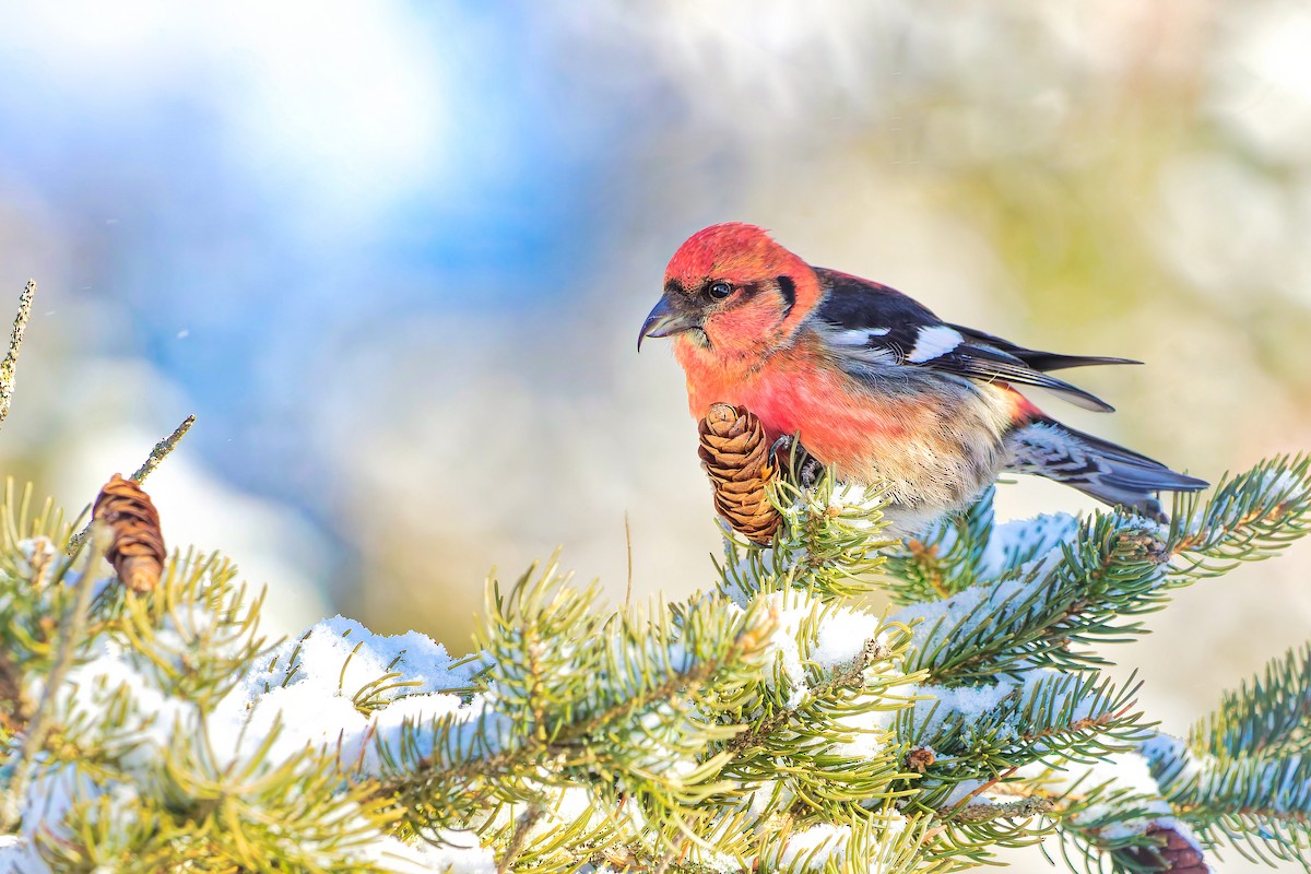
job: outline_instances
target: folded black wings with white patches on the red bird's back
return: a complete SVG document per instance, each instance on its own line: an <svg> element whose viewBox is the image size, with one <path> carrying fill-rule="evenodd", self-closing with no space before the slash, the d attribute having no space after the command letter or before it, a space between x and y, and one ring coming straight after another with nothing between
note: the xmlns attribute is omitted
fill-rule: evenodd
<svg viewBox="0 0 1311 874"><path fill-rule="evenodd" d="M1109 413L1113 408L1105 401L1045 371L1137 363L1024 349L979 330L948 325L895 288L835 270L815 273L827 286L815 317L830 345L847 354L857 368L861 364L926 367L983 383L1033 385L1084 409Z"/></svg>

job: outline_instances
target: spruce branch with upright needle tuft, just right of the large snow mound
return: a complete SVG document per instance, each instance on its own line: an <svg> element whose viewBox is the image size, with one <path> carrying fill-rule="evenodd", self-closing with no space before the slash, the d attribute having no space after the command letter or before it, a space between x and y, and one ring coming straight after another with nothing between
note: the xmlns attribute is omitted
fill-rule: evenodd
<svg viewBox="0 0 1311 874"><path fill-rule="evenodd" d="M585 612L593 595L558 588L552 565L539 580L531 582L526 574L509 598L497 596L489 604L484 650L498 656L501 663L522 666L522 672L513 679L502 677L498 685L497 704L503 710L484 710L473 725L468 717L459 715L430 726L434 739L425 746L430 746L431 752L418 752L417 747L410 747L412 742L406 742L402 750L413 752L402 753L400 760L388 765L389 770L402 776L384 781L383 793L409 799L427 812L437 812L440 807L430 801L440 793L444 803L451 806L446 814L451 814L459 806L477 803L489 793L496 794L503 777L522 770L528 763L549 763L558 778L578 768L614 769L619 776L636 767L637 778L650 780L653 774L641 764L649 757L645 744L635 738L638 747L625 751L615 743L615 731L627 727L635 715L650 714L653 708L659 706L673 708L662 718L679 722L691 718L691 713L684 712L686 706L678 702L700 702L704 706L707 702L701 701L697 689L717 677L724 683L728 679L725 674L739 671L742 663L758 659L768 634L767 617L762 625L762 618L749 613L733 622L735 632L721 638L714 650L707 651L703 658L688 658L700 647L697 641L701 636L709 632L709 628L701 626L703 622L711 621L716 626L718 621L712 620L709 605L701 605L682 616L680 646L687 651L686 656L676 662L669 659L667 643L638 654L632 649L641 639L635 626L623 622L611 625L611 634L617 632L621 639L627 638L627 646L616 646L599 633L587 630L597 621ZM549 639L552 647L557 647L557 630L561 628L570 628L579 637L579 643L569 643L572 664L568 668L556 660L558 655L553 649L548 651L544 645ZM659 632L659 638L671 633L673 628L666 628ZM709 643L711 638L707 637L705 642ZM577 684L570 685L576 677L611 677L621 683L615 689L598 689L600 700L572 701L582 691ZM707 738L735 732L735 729L720 729L700 719L696 725ZM610 747L598 747L594 740L598 736L610 738ZM418 759L414 759L416 753ZM713 769L707 773L712 774ZM694 774L684 776L678 784L662 784L662 789L688 799L707 791L697 788Z"/></svg>

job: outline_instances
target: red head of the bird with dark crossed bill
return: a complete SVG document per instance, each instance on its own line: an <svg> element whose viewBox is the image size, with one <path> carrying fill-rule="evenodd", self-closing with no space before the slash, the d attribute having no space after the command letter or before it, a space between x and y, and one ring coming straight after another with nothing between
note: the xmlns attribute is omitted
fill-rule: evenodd
<svg viewBox="0 0 1311 874"><path fill-rule="evenodd" d="M763 229L714 224L670 258L665 294L642 324L637 349L648 337L676 335L716 356L758 356L796 333L818 295L814 270Z"/></svg>

